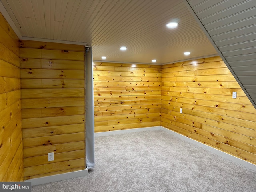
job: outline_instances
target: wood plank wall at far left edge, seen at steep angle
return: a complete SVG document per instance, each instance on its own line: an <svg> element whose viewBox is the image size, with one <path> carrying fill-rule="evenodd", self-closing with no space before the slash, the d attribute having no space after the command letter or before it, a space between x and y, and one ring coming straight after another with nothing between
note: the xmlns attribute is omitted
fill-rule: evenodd
<svg viewBox="0 0 256 192"><path fill-rule="evenodd" d="M19 39L0 13L0 182L23 181Z"/></svg>

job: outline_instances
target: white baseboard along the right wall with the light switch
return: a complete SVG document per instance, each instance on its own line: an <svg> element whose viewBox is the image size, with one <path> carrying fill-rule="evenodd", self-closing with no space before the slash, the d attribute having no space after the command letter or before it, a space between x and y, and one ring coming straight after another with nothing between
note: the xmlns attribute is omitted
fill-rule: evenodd
<svg viewBox="0 0 256 192"><path fill-rule="evenodd" d="M162 127L162 126L161 126L161 127ZM201 147L201 148L204 148L204 149L206 149L206 150L208 150L208 151L210 151L210 152L213 152L214 154L217 154L217 155L219 155L219 156L222 156L222 157L224 157L224 158L227 158L228 160L231 160L231 161L233 161L233 162L236 162L237 164L240 164L240 165L242 165L242 166L245 166L246 168L249 168L249 169L251 169L251 170L253 170L253 171L256 171L256 165L254 165L254 164L252 164L252 163L250 163L250 162L247 162L247 161L245 161L245 160L242 160L242 159L240 159L240 158L237 158L237 157L235 157L235 156L232 156L232 155L230 155L230 154L227 154L227 153L225 153L225 152L223 152L223 151L221 151L221 150L218 150L218 149L216 149L216 148L213 148L213 147L211 147L211 146L208 146L208 145L206 145L206 144L203 144L203 143L201 143L201 142L198 142L198 141L196 141L196 140L193 140L193 139L191 139L191 138L188 138L188 137L186 137L186 136L184 136L184 135L182 135L182 134L179 134L179 133L177 133L177 132L174 132L174 131L172 131L172 130L170 130L170 129L168 129L168 128L162 127L161 130L164 130L164 131L167 132L168 134L172 134L172 135L174 135L174 136L176 136L176 137L178 137L178 138L181 138L181 139L186 140L186 141L188 141L188 142L190 142L190 143L192 143L192 144L195 144L195 145L197 145L197 146L199 146L199 147Z"/></svg>

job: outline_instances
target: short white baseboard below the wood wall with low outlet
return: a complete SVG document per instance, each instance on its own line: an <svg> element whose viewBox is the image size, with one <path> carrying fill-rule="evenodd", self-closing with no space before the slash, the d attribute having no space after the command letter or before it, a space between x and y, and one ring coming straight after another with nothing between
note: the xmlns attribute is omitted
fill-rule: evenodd
<svg viewBox="0 0 256 192"><path fill-rule="evenodd" d="M55 181L62 181L62 180L66 180L66 179L87 176L87 174L88 174L88 170L86 168L86 169L80 170L80 171L74 171L74 172L62 173L62 174L51 175L51 176L46 176L46 177L28 179L25 181L31 182L31 185L33 186L33 185L40 185L40 184L51 183L51 182L55 182Z"/></svg>

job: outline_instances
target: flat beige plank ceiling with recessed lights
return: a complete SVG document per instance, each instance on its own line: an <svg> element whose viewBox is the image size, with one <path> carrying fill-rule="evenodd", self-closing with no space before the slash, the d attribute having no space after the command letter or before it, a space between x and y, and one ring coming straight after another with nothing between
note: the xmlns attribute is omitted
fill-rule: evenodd
<svg viewBox="0 0 256 192"><path fill-rule="evenodd" d="M182 0L0 0L0 12L20 39L92 46L94 61L167 64L217 54ZM173 21L178 27L167 28Z"/></svg>

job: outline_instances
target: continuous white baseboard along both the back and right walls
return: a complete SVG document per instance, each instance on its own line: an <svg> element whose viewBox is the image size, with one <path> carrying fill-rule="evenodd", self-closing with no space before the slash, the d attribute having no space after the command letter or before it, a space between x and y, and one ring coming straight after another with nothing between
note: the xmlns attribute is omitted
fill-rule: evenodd
<svg viewBox="0 0 256 192"><path fill-rule="evenodd" d="M124 134L124 133L132 133L132 132L140 132L140 131L149 131L149 130L163 130L165 132L167 132L168 134L172 134L178 138L181 138L183 140L186 140L192 144L195 144L201 148L204 148L210 152L213 152L214 154L217 154L217 155L220 155L228 160L231 160L233 162L236 162L237 164L240 164L242 166L245 166L246 168L249 168L253 171L256 171L256 165L250 163L250 162L247 162L245 160L242 160L240 158L237 158L235 156L232 156L230 154L227 154L221 150L218 150L216 148L213 148L211 146L208 146L206 144L203 144L201 142L198 142L196 140L193 140L191 138L188 138L182 134L179 134L177 132L174 132L168 128L164 128L162 126L156 126L156 127L146 127L146 128L134 128L134 129L125 129L125 130L117 130L117 131L108 131L108 132L97 132L95 133L95 137L99 137L99 136L108 136L108 135L116 135L116 134Z"/></svg>

